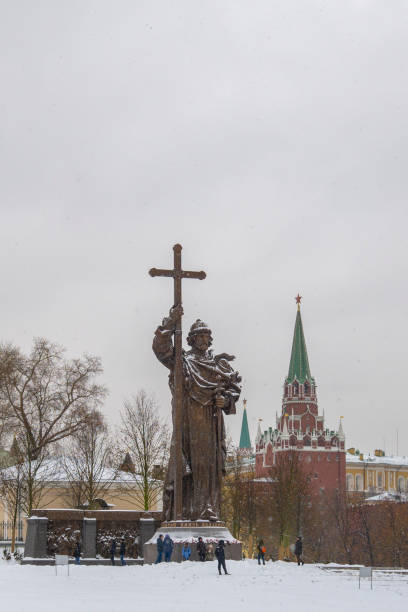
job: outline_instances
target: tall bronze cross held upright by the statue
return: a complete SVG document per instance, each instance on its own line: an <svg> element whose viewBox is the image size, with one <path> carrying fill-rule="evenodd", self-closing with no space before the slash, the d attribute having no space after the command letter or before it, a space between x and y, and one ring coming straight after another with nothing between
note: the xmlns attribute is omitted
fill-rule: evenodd
<svg viewBox="0 0 408 612"><path fill-rule="evenodd" d="M181 279L198 278L204 280L205 272L188 272L181 268L181 244L175 244L173 270L160 270L152 268L150 276L167 276L174 279L174 306L181 306ZM183 455L182 455L182 426L183 426L183 360L181 337L181 313L176 321L174 332L174 438L175 438L175 478L174 478L174 520L180 521L183 512L182 482L183 482Z"/></svg>

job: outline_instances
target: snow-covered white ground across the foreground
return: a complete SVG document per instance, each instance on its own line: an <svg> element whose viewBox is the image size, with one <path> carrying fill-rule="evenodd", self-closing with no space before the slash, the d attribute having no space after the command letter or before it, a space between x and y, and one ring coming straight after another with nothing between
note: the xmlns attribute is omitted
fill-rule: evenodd
<svg viewBox="0 0 408 612"><path fill-rule="evenodd" d="M314 565L229 561L230 576L216 562L133 567L53 567L0 562L1 608L13 612L185 612L282 610L284 612L402 612L408 576L358 590L357 572L332 573Z"/></svg>

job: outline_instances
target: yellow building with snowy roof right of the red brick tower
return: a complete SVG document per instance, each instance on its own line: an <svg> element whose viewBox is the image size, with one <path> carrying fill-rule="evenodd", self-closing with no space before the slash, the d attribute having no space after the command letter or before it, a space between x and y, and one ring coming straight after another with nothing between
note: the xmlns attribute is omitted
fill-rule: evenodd
<svg viewBox="0 0 408 612"><path fill-rule="evenodd" d="M385 456L382 450L366 455L349 448L346 453L346 488L375 495L408 492L408 457Z"/></svg>

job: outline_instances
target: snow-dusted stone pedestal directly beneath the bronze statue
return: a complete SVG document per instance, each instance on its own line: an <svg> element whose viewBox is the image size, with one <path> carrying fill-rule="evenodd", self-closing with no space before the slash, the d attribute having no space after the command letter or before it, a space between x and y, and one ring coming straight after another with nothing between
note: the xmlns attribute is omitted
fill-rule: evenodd
<svg viewBox="0 0 408 612"><path fill-rule="evenodd" d="M188 542L191 549L190 561L199 561L197 553L198 538L202 537L207 544L213 544L214 550L219 540L225 542L225 558L234 561L242 559L242 544L232 537L230 531L222 522L210 521L170 521L162 523L160 529L144 544L144 563L151 564L157 558L157 538L160 534L169 534L174 542L172 561L181 562L183 545ZM215 559L215 557L214 557Z"/></svg>

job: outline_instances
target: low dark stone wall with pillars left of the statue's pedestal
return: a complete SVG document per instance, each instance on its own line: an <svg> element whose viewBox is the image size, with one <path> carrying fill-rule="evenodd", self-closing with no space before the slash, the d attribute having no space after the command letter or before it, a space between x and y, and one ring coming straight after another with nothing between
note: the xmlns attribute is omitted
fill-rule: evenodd
<svg viewBox="0 0 408 612"><path fill-rule="evenodd" d="M55 554L72 555L81 543L83 558L110 557L112 538L125 538L126 557L143 556L143 545L161 524L161 512L137 510L36 509L27 519L24 557L52 558Z"/></svg>

